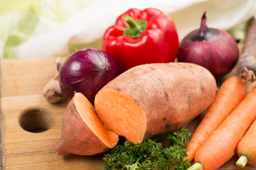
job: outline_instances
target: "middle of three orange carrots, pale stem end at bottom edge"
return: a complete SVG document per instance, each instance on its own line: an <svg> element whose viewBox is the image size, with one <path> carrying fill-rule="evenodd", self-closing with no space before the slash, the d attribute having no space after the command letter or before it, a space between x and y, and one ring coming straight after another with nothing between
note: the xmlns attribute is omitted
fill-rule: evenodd
<svg viewBox="0 0 256 170"><path fill-rule="evenodd" d="M194 158L197 164L189 169L218 169L225 164L233 157L238 143L255 118L256 86L198 149Z"/></svg>

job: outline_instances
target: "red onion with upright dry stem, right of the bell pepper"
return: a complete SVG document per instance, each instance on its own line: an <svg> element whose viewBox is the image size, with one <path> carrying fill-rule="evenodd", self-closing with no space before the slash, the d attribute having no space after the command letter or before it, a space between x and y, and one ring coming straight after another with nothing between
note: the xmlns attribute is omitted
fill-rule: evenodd
<svg viewBox="0 0 256 170"><path fill-rule="evenodd" d="M206 67L218 79L228 74L238 62L238 45L224 30L206 26L203 11L201 27L188 33L180 43L178 62L192 62Z"/></svg>

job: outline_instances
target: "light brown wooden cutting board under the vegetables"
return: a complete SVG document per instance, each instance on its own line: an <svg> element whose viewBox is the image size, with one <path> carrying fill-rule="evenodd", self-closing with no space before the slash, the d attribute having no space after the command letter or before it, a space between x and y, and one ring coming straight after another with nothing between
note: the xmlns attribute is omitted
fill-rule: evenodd
<svg viewBox="0 0 256 170"><path fill-rule="evenodd" d="M52 148L60 138L68 105L66 100L50 104L42 96L43 86L55 74L54 62L55 58L1 60L1 169L103 169L102 154L58 157ZM188 129L194 132L200 120L198 116ZM235 154L220 169L239 169L237 159Z"/></svg>

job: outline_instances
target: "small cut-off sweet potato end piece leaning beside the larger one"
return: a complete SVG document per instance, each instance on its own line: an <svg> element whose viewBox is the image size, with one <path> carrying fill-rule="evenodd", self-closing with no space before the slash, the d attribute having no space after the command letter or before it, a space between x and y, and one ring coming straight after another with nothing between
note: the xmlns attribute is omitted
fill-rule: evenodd
<svg viewBox="0 0 256 170"><path fill-rule="evenodd" d="M65 111L60 140L53 145L61 154L94 155L111 149L119 137L106 130L85 96L76 93Z"/></svg>

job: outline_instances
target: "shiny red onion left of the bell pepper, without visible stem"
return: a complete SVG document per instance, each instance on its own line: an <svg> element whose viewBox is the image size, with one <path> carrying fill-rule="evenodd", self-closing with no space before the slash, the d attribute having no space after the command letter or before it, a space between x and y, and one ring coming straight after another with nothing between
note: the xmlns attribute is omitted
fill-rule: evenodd
<svg viewBox="0 0 256 170"><path fill-rule="evenodd" d="M85 48L70 55L60 67L60 88L68 99L75 92L93 103L97 91L120 74L112 56L102 50Z"/></svg>

